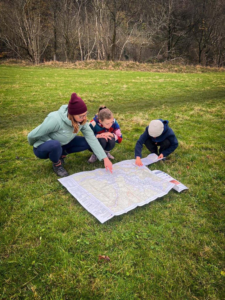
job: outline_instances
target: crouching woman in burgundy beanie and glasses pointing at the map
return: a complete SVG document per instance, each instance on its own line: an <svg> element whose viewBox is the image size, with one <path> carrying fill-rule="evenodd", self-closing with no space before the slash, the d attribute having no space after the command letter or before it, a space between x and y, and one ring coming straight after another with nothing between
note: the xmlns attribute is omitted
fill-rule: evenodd
<svg viewBox="0 0 225 300"><path fill-rule="evenodd" d="M113 165L89 127L87 115L86 104L73 93L68 105L62 105L59 110L49 113L44 122L28 134L28 142L33 146L34 154L38 158L49 158L58 176L69 175L63 167L67 154L90 148L100 161L104 160L106 170L112 173ZM79 131L84 137L77 136Z"/></svg>

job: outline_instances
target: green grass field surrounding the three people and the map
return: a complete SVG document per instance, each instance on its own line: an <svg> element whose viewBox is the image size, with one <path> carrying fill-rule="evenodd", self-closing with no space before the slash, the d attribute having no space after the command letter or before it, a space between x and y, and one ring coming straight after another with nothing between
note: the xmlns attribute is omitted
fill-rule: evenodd
<svg viewBox="0 0 225 300"><path fill-rule="evenodd" d="M224 75L0 65L0 299L224 299ZM72 92L89 120L100 104L113 111L115 162L134 158L150 120L168 119L179 147L149 169L189 190L101 224L27 142ZM66 170L104 167L89 157L70 155Z"/></svg>

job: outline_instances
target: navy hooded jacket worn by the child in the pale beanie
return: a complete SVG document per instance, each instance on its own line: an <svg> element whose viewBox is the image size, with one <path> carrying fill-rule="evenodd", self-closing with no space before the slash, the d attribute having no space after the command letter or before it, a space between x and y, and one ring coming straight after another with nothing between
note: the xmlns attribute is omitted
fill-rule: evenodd
<svg viewBox="0 0 225 300"><path fill-rule="evenodd" d="M164 157L170 155L178 147L178 140L177 140L173 130L168 126L169 121L163 120L163 119L158 119L158 120L163 122L163 125L164 125L163 133L160 136L156 137L156 138L151 137L149 135L149 131L148 131L149 126L147 126L146 129L145 129L145 132L140 136L140 138L138 139L138 141L135 145L135 149L134 149L135 158L137 156L141 157L141 151L142 151L142 148L143 148L143 144L149 138L155 143L162 142L165 139L169 140L170 147L168 147L167 149L164 149L162 151L162 154L163 154Z"/></svg>

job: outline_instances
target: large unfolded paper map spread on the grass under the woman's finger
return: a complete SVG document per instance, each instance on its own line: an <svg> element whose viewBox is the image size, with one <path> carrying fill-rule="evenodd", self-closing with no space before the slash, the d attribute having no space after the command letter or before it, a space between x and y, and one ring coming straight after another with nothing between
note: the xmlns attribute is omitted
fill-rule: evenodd
<svg viewBox="0 0 225 300"><path fill-rule="evenodd" d="M113 164L113 174L97 169L58 180L87 211L104 223L166 195L174 186L147 167L134 166L132 161Z"/></svg>

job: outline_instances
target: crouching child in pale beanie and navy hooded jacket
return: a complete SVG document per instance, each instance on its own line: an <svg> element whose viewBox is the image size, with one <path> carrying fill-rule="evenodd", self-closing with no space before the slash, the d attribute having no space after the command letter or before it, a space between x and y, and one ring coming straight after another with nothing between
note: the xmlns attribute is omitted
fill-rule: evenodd
<svg viewBox="0 0 225 300"><path fill-rule="evenodd" d="M146 127L145 132L140 136L135 145L134 156L137 166L143 166L141 162L143 144L150 152L156 155L158 155L159 146L158 158L170 155L178 147L178 140L173 130L168 126L168 123L169 121L162 119L152 120L149 126Z"/></svg>

